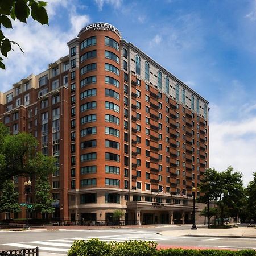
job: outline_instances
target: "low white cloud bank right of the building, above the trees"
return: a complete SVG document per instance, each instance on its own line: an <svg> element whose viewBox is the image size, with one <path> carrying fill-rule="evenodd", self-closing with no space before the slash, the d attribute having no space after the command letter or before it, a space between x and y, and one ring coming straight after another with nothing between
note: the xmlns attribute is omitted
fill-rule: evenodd
<svg viewBox="0 0 256 256"><path fill-rule="evenodd" d="M224 171L229 165L243 174L244 184L253 179L256 158L256 118L210 123L210 167Z"/></svg>

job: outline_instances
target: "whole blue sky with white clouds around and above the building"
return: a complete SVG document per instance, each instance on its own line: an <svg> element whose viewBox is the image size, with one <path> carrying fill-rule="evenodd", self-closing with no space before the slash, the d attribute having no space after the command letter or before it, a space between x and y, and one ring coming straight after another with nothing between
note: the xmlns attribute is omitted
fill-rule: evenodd
<svg viewBox="0 0 256 256"><path fill-rule="evenodd" d="M0 90L68 54L88 23L107 22L210 102L210 167L247 184L256 171L255 0L48 0L49 27L16 23ZM18 60L18 61L16 61Z"/></svg>

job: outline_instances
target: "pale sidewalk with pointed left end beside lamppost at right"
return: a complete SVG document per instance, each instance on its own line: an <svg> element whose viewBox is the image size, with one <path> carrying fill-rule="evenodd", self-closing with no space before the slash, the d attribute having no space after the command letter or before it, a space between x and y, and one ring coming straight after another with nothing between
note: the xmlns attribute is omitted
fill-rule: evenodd
<svg viewBox="0 0 256 256"><path fill-rule="evenodd" d="M231 229L197 228L196 230L166 230L159 232L163 236L204 236L204 237L242 237L256 238L256 228L238 227Z"/></svg>

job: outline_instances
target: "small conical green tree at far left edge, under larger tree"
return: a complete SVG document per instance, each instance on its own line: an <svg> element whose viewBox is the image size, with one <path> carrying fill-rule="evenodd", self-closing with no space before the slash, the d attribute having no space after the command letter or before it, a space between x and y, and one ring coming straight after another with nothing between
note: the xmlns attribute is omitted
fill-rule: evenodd
<svg viewBox="0 0 256 256"><path fill-rule="evenodd" d="M13 180L6 180L3 183L3 190L0 193L0 212L20 212L20 206L17 203L19 194L15 192Z"/></svg>

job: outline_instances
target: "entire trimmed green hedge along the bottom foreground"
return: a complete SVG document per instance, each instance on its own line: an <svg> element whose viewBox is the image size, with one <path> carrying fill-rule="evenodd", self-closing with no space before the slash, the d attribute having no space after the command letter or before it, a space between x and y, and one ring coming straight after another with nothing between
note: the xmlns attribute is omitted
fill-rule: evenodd
<svg viewBox="0 0 256 256"><path fill-rule="evenodd" d="M73 242L68 256L256 256L254 250L184 250L156 249L157 243L130 240L125 242L104 242L93 238Z"/></svg>

